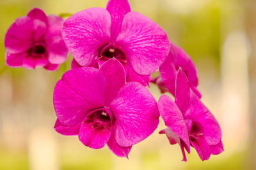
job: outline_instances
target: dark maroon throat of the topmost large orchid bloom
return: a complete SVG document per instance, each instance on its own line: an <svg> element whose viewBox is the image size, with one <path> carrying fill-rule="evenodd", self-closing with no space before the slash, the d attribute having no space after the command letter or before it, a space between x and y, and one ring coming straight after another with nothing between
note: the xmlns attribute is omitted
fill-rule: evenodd
<svg viewBox="0 0 256 170"><path fill-rule="evenodd" d="M107 61L108 59L116 58L121 63L126 63L126 58L122 50L115 47L115 45L105 45L99 50L99 59Z"/></svg>

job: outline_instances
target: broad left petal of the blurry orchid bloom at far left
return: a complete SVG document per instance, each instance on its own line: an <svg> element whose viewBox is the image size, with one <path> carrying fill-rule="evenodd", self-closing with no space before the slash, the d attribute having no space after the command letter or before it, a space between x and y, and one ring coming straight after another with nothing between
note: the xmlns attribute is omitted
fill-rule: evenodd
<svg viewBox="0 0 256 170"><path fill-rule="evenodd" d="M45 31L44 22L20 17L13 22L5 35L5 49L10 53L26 52L32 42L44 35Z"/></svg>

